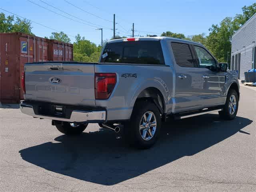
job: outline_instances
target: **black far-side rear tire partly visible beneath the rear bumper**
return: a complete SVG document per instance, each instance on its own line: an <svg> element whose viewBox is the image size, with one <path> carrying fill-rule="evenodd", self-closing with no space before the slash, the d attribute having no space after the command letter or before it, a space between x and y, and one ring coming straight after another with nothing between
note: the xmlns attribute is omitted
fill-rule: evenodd
<svg viewBox="0 0 256 192"><path fill-rule="evenodd" d="M63 134L66 135L78 135L81 134L87 127L88 124L81 124L76 127L70 125L70 122L61 122L56 125L56 128Z"/></svg>

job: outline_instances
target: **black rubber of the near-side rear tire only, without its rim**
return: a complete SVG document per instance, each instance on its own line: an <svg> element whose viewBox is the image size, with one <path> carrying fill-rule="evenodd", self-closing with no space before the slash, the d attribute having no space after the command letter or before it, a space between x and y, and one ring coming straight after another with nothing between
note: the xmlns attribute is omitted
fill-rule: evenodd
<svg viewBox="0 0 256 192"><path fill-rule="evenodd" d="M148 138L150 139L145 140L142 138L144 136L144 135L142 136L143 131L145 130L144 129L140 130L140 124L144 114L147 113L149 115L150 112L154 114L152 115L151 123L153 124L154 120L156 120L156 126L155 128L154 126L148 128L150 129L150 133L151 134L154 133L154 134L152 135L152 138L150 138L149 132L147 130L146 136L148 137L146 137L145 139L148 139ZM146 114L146 117L148 117L147 114ZM126 139L130 143L130 145L135 148L139 148L139 149L150 148L156 143L157 137L160 133L161 125L162 125L162 122L161 122L160 111L158 110L157 106L152 102L138 101L134 106L130 121L127 122L124 127ZM153 130L153 128L155 129L155 131Z"/></svg>

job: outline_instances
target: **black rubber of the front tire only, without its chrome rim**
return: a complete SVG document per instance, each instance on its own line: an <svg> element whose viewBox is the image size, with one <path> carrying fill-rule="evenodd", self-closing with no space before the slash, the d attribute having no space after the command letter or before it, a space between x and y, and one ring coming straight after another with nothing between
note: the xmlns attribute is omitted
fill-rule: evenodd
<svg viewBox="0 0 256 192"><path fill-rule="evenodd" d="M230 98L234 96L235 97L235 101L236 101L236 107L235 110L231 109L231 113L230 113ZM227 99L226 99L226 103L222 109L222 111L219 112L220 118L224 119L224 120L232 120L236 117L237 111L238 111L238 94L236 92L236 90L229 90L228 95L227 95Z"/></svg>

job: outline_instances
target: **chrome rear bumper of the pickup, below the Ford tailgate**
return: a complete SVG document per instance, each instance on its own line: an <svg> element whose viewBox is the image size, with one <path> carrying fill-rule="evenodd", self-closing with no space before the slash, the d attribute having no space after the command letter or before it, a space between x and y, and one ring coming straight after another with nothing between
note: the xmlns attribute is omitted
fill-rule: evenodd
<svg viewBox="0 0 256 192"><path fill-rule="evenodd" d="M54 104L48 105L54 106ZM38 108L40 106L44 106L44 103L41 102L28 102L28 101L21 101L20 102L20 110L22 113L43 119L50 119L50 120L58 120L58 121L66 121L66 122L105 122L106 121L106 110L104 109L92 109L86 107L77 107L77 106L64 106L67 108L66 114L64 116L56 116L52 115L49 110L48 114L40 114Z"/></svg>

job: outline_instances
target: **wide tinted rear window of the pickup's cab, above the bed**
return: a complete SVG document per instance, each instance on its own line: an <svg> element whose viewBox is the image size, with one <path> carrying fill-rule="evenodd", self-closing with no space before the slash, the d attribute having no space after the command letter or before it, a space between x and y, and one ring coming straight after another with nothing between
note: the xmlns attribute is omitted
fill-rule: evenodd
<svg viewBox="0 0 256 192"><path fill-rule="evenodd" d="M106 44L100 62L164 65L160 41L123 41Z"/></svg>

